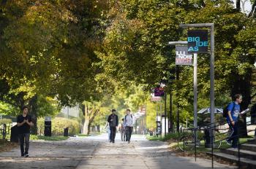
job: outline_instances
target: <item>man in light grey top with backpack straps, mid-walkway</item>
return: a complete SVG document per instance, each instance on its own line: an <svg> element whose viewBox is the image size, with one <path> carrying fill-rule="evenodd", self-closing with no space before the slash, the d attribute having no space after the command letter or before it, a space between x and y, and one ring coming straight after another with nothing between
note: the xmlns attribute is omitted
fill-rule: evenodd
<svg viewBox="0 0 256 169"><path fill-rule="evenodd" d="M125 125L126 141L128 141L128 144L131 141L134 121L135 119L132 116L130 109L127 109L127 115L124 117L124 125Z"/></svg>

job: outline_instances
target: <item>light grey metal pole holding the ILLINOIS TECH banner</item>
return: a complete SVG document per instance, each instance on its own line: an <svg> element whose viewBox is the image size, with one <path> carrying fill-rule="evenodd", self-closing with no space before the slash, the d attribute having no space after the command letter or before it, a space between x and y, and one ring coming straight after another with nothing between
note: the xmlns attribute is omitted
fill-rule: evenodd
<svg viewBox="0 0 256 169"><path fill-rule="evenodd" d="M197 128L197 53L194 53L194 127ZM196 132L195 144L197 144Z"/></svg>

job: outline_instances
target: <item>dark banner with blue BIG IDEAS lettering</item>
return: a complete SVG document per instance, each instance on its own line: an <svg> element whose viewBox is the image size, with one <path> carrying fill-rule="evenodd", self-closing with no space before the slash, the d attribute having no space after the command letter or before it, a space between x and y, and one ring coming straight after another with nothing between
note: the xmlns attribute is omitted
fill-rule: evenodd
<svg viewBox="0 0 256 169"><path fill-rule="evenodd" d="M208 31L190 30L187 32L188 52L207 53L208 52Z"/></svg>

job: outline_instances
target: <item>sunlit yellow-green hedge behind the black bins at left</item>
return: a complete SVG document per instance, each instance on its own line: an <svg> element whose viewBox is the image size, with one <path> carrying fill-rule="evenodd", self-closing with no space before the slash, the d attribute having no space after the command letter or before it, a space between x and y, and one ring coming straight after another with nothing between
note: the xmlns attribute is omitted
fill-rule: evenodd
<svg viewBox="0 0 256 169"><path fill-rule="evenodd" d="M64 128L69 127L69 135L75 135L80 133L80 125L79 122L74 119L66 119L63 117L56 117L52 119L51 122L51 132L52 135L63 135ZM43 133L45 130L45 119L40 118L37 119L37 127L38 130Z"/></svg>

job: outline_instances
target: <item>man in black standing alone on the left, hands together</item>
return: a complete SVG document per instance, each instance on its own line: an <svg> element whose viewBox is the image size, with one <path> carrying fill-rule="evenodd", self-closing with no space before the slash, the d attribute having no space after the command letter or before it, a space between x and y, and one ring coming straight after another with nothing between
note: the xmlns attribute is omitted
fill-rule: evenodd
<svg viewBox="0 0 256 169"><path fill-rule="evenodd" d="M30 127L34 124L31 122L31 116L29 116L29 108L23 106L23 113L17 117L17 125L20 139L20 152L21 157L29 157L29 136L30 136ZM24 152L24 139L25 139L25 152Z"/></svg>

